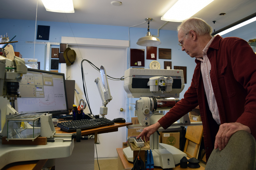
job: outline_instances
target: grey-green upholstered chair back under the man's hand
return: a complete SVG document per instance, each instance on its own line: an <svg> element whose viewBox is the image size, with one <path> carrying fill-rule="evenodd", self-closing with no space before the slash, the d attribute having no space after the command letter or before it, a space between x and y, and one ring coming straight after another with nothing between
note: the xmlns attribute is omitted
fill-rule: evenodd
<svg viewBox="0 0 256 170"><path fill-rule="evenodd" d="M214 149L205 170L256 170L256 142L244 130L237 131L222 150Z"/></svg>

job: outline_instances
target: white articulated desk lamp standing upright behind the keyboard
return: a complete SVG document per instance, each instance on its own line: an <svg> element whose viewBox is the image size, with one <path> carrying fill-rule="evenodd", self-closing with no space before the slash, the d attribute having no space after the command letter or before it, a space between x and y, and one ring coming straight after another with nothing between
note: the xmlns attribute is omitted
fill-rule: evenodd
<svg viewBox="0 0 256 170"><path fill-rule="evenodd" d="M101 85L99 83L100 78L96 78L95 79L95 83L98 87L99 93L100 93L100 97L102 100L102 106L100 107L100 115L107 115L108 114L108 107L106 107L106 105L108 104L108 102L110 100L112 100L112 96L110 94L110 90L109 90L109 85L108 85L108 78L107 78L107 72L104 68L104 66L100 66L100 75L101 75L101 80L102 80L102 84L103 84L103 91L101 88Z"/></svg>

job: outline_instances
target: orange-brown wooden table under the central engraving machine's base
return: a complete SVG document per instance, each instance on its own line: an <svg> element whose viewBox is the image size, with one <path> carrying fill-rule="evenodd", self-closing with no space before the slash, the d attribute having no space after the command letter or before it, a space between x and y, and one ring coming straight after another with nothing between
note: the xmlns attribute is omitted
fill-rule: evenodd
<svg viewBox="0 0 256 170"><path fill-rule="evenodd" d="M123 170L123 169L126 169L126 168L132 168L133 165L131 162L129 162L126 157L124 156L124 153L123 153L123 149L124 148L116 148L116 151L117 151L117 155L118 155L118 165L117 165L117 169L118 170ZM189 158L188 158L189 159ZM173 170L204 170L204 167L200 167L200 168L181 168L180 167L180 164L178 166L176 166L175 168L170 168L170 169L173 169ZM154 167L154 170L163 170L163 168L159 167L159 166L155 166Z"/></svg>

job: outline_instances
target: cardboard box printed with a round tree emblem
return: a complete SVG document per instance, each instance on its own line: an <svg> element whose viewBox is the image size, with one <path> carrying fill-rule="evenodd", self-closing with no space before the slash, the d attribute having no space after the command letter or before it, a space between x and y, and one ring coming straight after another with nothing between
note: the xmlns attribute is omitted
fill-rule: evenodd
<svg viewBox="0 0 256 170"><path fill-rule="evenodd" d="M180 149L180 132L160 132L161 143Z"/></svg>

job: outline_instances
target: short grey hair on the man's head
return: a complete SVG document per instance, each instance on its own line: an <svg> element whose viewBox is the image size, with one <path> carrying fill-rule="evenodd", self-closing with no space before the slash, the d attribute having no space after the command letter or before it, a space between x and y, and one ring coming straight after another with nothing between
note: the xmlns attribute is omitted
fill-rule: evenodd
<svg viewBox="0 0 256 170"><path fill-rule="evenodd" d="M183 33L188 33L190 30L193 30L199 36L209 33L212 37L212 27L200 18L188 18L184 20L180 26L178 26L177 31L180 29Z"/></svg>

